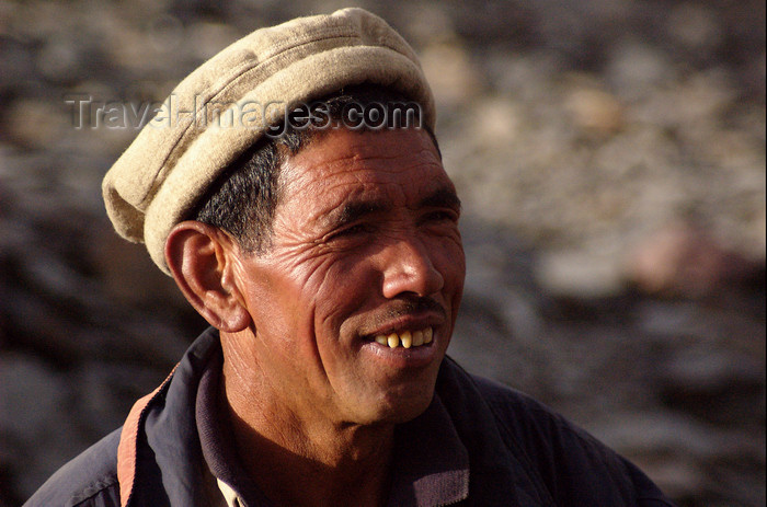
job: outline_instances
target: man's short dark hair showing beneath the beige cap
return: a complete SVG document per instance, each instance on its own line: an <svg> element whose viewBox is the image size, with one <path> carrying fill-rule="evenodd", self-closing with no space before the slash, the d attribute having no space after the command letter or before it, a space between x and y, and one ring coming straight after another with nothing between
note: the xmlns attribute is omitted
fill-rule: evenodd
<svg viewBox="0 0 767 507"><path fill-rule="evenodd" d="M330 128L322 122L352 125L348 123L350 105L363 108L382 104L401 106L407 101L402 94L390 89L362 84L312 102L308 105L309 110L301 110L298 114L301 118L306 118L307 111L319 111L321 114L310 114L312 119L298 127L299 122L295 116L274 125L272 132L279 134L262 137L231 163L198 201L191 218L229 232L247 252L264 252L271 246L274 214L282 191L278 184L279 168L285 159L327 134ZM294 111L291 115L295 114ZM415 120L421 123L420 108L416 115ZM389 124L389 128L408 127L409 119L413 119L399 114L392 116L396 123ZM427 127L423 128L426 128L438 151L434 132ZM353 129L371 130L364 123Z"/></svg>

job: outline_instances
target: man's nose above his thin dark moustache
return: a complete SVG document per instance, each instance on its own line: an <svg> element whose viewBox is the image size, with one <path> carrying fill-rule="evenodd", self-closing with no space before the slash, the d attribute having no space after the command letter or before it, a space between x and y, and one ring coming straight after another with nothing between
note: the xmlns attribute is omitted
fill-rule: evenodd
<svg viewBox="0 0 767 507"><path fill-rule="evenodd" d="M385 251L384 297L402 293L426 297L438 292L445 279L434 266L430 251L417 238L399 239Z"/></svg>

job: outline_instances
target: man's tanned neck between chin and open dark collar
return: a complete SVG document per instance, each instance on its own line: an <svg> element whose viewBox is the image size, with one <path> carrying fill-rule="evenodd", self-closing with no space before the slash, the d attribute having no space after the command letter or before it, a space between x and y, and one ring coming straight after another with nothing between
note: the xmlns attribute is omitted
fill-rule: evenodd
<svg viewBox="0 0 767 507"><path fill-rule="evenodd" d="M301 417L260 369L225 354L220 396L245 472L276 506L384 506L393 425ZM298 487L297 487L298 486Z"/></svg>

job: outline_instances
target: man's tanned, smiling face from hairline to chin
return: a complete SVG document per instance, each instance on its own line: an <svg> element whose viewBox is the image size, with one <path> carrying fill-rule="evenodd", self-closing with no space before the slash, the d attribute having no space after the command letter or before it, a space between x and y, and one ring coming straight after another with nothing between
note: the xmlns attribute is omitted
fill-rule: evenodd
<svg viewBox="0 0 767 507"><path fill-rule="evenodd" d="M434 143L424 130L334 130L290 157L281 180L272 247L237 263L260 395L339 424L417 416L466 272L459 201ZM394 344L394 333L396 348L376 341ZM408 333L433 338L405 348Z"/></svg>

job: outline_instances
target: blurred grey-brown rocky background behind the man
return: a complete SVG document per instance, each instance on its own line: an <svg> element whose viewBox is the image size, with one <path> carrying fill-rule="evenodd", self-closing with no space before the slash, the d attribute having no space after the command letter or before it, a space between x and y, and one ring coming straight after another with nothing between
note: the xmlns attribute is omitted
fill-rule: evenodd
<svg viewBox="0 0 767 507"><path fill-rule="evenodd" d="M136 130L75 128L72 97L161 101L250 31L347 4L437 96L469 255L451 354L679 506L764 506L763 0L0 0L0 506L204 329L105 218Z"/></svg>

